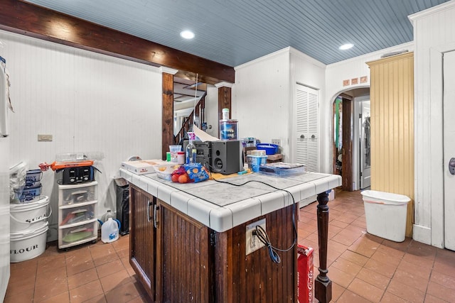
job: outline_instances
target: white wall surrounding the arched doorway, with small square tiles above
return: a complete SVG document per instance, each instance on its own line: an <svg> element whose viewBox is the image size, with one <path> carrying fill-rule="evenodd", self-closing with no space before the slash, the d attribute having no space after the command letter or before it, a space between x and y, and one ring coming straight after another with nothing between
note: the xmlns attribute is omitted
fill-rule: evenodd
<svg viewBox="0 0 455 303"><path fill-rule="evenodd" d="M332 142L333 142L333 101L342 92L362 87L370 87L370 68L366 62L380 59L381 55L392 53L400 50L414 51L414 43L404 43L392 48L378 50L377 52L368 53L348 60L327 65L326 67L326 99L321 102L320 110L326 113L326 119L323 119L324 125L321 129L326 130L328 134L325 143L326 148L321 150L323 157L323 172L332 172ZM367 77L367 82L360 83L360 77ZM358 79L358 84L343 86L345 79Z"/></svg>

